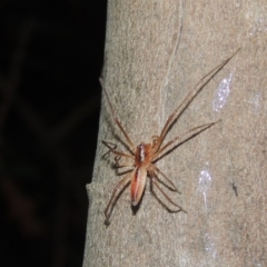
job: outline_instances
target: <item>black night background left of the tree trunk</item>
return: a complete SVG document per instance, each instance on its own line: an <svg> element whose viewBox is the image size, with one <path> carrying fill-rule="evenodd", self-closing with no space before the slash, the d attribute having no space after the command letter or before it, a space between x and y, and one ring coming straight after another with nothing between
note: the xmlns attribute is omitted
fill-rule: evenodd
<svg viewBox="0 0 267 267"><path fill-rule="evenodd" d="M0 266L81 266L107 1L0 2Z"/></svg>

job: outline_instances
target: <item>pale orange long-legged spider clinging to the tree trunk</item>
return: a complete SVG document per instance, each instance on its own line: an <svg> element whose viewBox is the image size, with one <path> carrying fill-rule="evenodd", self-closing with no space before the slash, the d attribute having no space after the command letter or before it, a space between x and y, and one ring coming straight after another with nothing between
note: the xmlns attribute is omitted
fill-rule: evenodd
<svg viewBox="0 0 267 267"><path fill-rule="evenodd" d="M158 185L158 181L160 181L161 184L164 184L168 189L172 190L172 191L177 191L178 194L180 194L178 191L178 189L176 188L175 184L165 175L162 174L162 171L157 168L155 166L155 161L157 161L159 158L161 158L162 156L165 156L166 154L168 154L171 149L178 147L179 144L187 141L188 139L190 139L191 137L195 137L196 135L200 134L201 131L206 130L207 128L211 127L212 125L217 123L218 121L215 122L210 122L210 123L205 123L201 126L197 126L186 132L184 132L180 136L177 136L176 138L174 138L172 140L168 141L167 144L165 144L162 147L162 141L165 139L165 136L167 135L168 130L170 129L170 126L176 121L176 119L185 111L185 109L188 107L188 105L192 101L192 99L201 91L201 89L210 81L210 79L212 79L212 77L218 73L219 70L221 70L224 68L224 66L239 51L239 49L228 59L226 59L224 62L221 62L219 66L217 66L216 68L214 68L211 71L209 71L205 77L202 77L198 83L195 86L195 88L187 95L187 97L185 98L185 100L175 109L175 111L169 116L169 118L167 119L164 129L161 130L159 136L152 136L152 140L150 144L145 144L145 142L140 142L140 145L135 146L134 142L131 141L131 139L129 138L128 134L126 132L126 130L123 129L123 127L121 126L119 119L116 117L113 107L111 105L111 101L108 97L108 93L105 89L103 86L103 81L102 78L100 78L100 83L102 86L103 92L107 97L108 100L108 105L110 107L111 110L111 116L115 120L115 122L117 123L117 126L119 127L119 129L121 130L122 135L125 136L126 140L127 140L127 145L129 148L129 151L131 154L126 154L126 152L121 152L116 150L116 145L111 144L111 142L107 142L107 141L102 141L102 144L105 146L107 146L109 148L109 151L111 151L113 155L116 155L116 165L118 168L121 167L134 167L132 171L127 174L115 187L112 196L108 202L108 206L105 210L105 216L106 216L106 225L109 225L109 218L113 208L113 205L117 200L117 198L119 197L119 194L121 192L121 190L130 182L130 197L131 197L131 205L132 206L137 206L141 199L144 189L145 189L145 185L146 185L146 179L147 177L150 178L150 182L152 185L155 185L159 191L164 195L164 197L174 206L178 207L177 210L174 211L185 211L187 212L185 209L182 209L179 205L177 205L176 202L174 202L168 195L160 188L160 186ZM172 146L169 150L166 151L167 148L169 148L171 145L174 145L177 140L179 140L179 142L177 142L175 146ZM162 152L165 152L162 155ZM121 158L127 158L130 159L131 162L129 161L122 161L120 162ZM166 181L170 185L167 186L165 182L162 182L161 180L159 180L157 175L161 175Z"/></svg>

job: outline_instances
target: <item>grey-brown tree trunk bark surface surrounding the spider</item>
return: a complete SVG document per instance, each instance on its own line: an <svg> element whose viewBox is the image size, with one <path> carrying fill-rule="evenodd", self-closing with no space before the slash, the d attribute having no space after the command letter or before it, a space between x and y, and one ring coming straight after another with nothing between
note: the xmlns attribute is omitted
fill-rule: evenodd
<svg viewBox="0 0 267 267"><path fill-rule="evenodd" d="M105 85L136 145L159 135L197 81L241 50L166 141L198 125L221 122L157 162L182 195L165 191L188 214L168 212L147 184L138 211L132 212L126 188L105 226L103 210L122 176L112 169L112 155L102 158L101 140L127 149L102 100L93 178L87 185L83 267L267 266L266 13L260 0L109 1Z"/></svg>

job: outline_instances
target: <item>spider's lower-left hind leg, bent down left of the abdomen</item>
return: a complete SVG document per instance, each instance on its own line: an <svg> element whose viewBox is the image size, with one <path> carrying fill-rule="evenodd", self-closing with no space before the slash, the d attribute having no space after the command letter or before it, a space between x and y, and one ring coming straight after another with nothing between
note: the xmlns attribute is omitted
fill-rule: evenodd
<svg viewBox="0 0 267 267"><path fill-rule="evenodd" d="M127 186L127 184L130 182L130 178L131 178L131 172L128 174L127 176L125 176L115 187L113 189L113 192L112 192L112 196L108 202L108 206L107 208L105 209L105 216L106 216L106 220L105 220L105 225L110 225L110 221L109 221L109 218L110 218L110 215L112 212L112 209L113 209L113 206L115 206L115 202L117 200L117 198L119 197L118 191L121 192L122 188ZM111 206L111 208L110 208Z"/></svg>

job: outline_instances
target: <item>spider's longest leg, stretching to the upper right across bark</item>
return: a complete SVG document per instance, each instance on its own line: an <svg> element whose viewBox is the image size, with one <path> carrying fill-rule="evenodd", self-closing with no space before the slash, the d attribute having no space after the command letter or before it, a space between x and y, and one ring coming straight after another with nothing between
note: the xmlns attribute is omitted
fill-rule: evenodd
<svg viewBox="0 0 267 267"><path fill-rule="evenodd" d="M157 147L155 148L155 151L157 151L168 132L170 126L174 123L175 119L179 118L180 115L185 111L185 109L188 107L188 105L195 99L195 97L205 88L205 86L229 62L229 60L240 50L240 48L231 55L228 59L222 61L220 65L215 67L211 71L209 71L206 76L204 76L197 85L194 87L194 89L186 96L184 101L174 110L174 112L169 116L167 119L162 131L159 135Z"/></svg>

